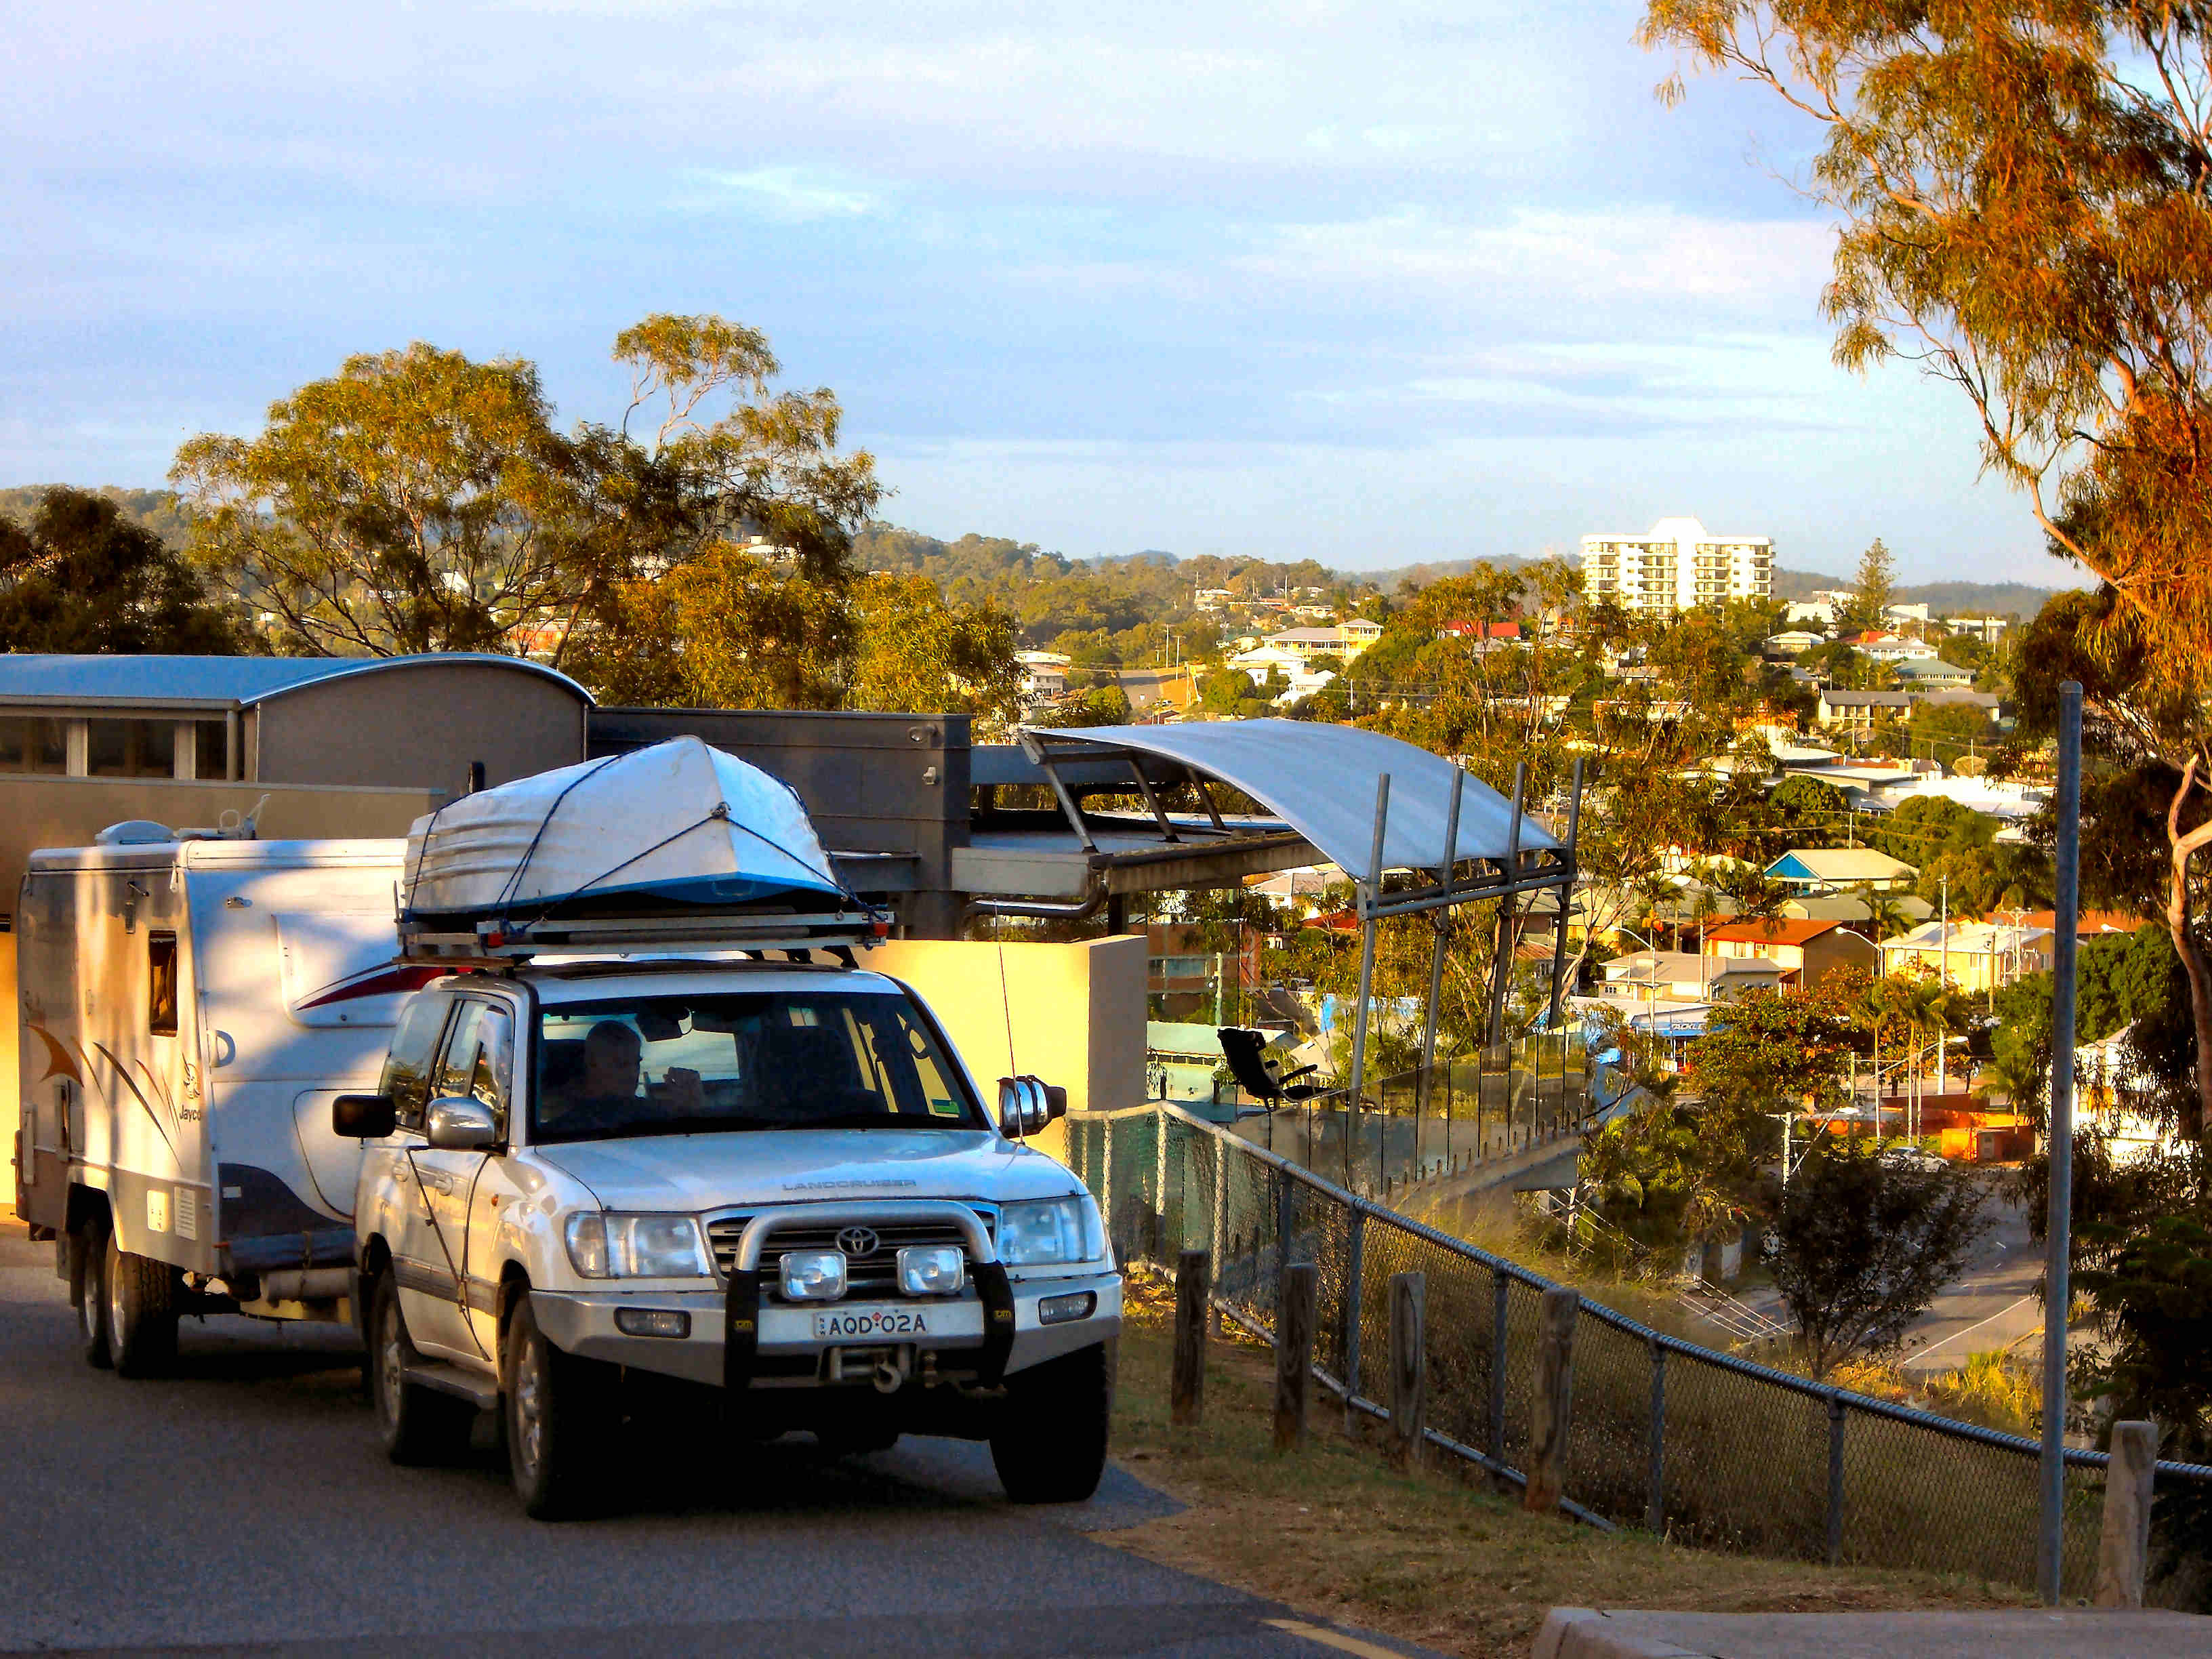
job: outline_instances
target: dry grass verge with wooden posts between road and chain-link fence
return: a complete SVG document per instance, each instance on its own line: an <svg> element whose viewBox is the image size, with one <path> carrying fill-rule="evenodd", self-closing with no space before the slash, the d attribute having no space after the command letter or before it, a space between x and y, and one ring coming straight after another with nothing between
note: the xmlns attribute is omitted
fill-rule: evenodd
<svg viewBox="0 0 2212 1659"><path fill-rule="evenodd" d="M1168 1425L1172 1301L1130 1279L1119 1460L1188 1509L1102 1535L1146 1559L1455 1655L1526 1655L1553 1606L1834 1613L2017 1606L2004 1586L1692 1551L1522 1513L1455 1469L1396 1475L1316 1409L1314 1442L1267 1447L1272 1354L1217 1340L1206 1422ZM1316 1398L1316 1407L1327 1396Z"/></svg>

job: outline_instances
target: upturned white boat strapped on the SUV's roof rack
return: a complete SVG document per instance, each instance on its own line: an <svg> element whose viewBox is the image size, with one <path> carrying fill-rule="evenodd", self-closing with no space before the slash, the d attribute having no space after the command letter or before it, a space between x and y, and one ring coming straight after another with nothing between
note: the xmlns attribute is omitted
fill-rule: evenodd
<svg viewBox="0 0 2212 1659"><path fill-rule="evenodd" d="M416 920L699 905L836 911L845 889L792 787L697 737L478 790L407 832Z"/></svg>

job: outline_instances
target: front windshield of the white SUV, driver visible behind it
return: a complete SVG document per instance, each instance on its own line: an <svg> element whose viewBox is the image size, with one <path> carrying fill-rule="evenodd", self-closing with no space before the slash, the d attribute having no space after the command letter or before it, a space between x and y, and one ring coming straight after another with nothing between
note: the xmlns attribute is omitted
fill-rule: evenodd
<svg viewBox="0 0 2212 1659"><path fill-rule="evenodd" d="M633 995L538 1015L538 1141L920 1124L987 1128L898 993Z"/></svg>

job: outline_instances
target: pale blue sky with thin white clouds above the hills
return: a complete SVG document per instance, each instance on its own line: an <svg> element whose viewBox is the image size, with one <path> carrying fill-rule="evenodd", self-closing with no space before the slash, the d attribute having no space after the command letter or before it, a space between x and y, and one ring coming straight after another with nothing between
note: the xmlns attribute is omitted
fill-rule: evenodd
<svg viewBox="0 0 2212 1659"><path fill-rule="evenodd" d="M1958 394L1829 363L1814 133L1615 0L11 0L0 484L157 484L352 352L619 418L768 332L896 491L1071 557L1338 568L1692 513L2066 582Z"/></svg>

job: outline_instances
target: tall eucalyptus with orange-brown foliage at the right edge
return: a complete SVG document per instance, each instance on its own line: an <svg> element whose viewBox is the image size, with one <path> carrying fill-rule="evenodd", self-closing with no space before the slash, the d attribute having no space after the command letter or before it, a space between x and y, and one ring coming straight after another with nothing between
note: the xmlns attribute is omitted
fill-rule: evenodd
<svg viewBox="0 0 2212 1659"><path fill-rule="evenodd" d="M1823 128L1836 361L1966 403L1984 467L2101 577L2073 646L2166 787L2163 918L2212 1121L2212 7L2203 0L1648 0L1648 46ZM1683 95L1677 71L1661 97ZM2157 823L2157 821L2152 821Z"/></svg>

